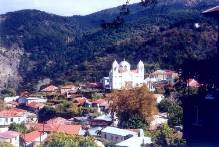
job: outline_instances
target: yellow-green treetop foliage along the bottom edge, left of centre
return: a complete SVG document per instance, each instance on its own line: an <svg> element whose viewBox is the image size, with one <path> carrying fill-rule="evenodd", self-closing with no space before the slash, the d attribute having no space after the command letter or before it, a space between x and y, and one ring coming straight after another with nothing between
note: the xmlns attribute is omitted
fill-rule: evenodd
<svg viewBox="0 0 219 147"><path fill-rule="evenodd" d="M43 147L97 147L93 137L73 136L64 133L54 133L49 136Z"/></svg>

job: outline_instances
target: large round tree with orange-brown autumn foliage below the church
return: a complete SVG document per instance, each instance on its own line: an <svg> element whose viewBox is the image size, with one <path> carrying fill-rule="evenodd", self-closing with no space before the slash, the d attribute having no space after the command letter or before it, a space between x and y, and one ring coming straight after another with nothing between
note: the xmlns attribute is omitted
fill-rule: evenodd
<svg viewBox="0 0 219 147"><path fill-rule="evenodd" d="M122 127L133 125L132 121L140 123L138 118L148 124L157 113L156 98L145 85L134 90L115 91L109 99L112 100L111 110L118 115Z"/></svg>

